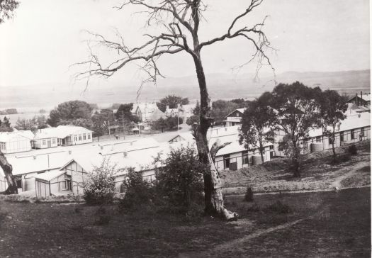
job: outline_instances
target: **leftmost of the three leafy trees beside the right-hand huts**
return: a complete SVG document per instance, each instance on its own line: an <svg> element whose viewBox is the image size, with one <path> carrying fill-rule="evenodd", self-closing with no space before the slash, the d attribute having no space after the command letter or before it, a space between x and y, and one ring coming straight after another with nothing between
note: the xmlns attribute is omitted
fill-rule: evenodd
<svg viewBox="0 0 372 258"><path fill-rule="evenodd" d="M248 149L257 148L264 162L265 142L274 142L272 127L276 121L276 113L269 106L265 94L249 103L243 113L239 143Z"/></svg>

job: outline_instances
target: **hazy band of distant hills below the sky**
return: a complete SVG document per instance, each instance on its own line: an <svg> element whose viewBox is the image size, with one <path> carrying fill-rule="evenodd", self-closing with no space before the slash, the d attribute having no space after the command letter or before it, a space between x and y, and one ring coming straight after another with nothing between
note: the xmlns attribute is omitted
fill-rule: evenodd
<svg viewBox="0 0 372 258"><path fill-rule="evenodd" d="M284 72L276 75L276 82L303 82L322 89L336 89L348 94L359 91L370 92L370 70L346 72ZM254 80L254 74L206 74L211 99L253 99L264 91L274 88L274 76L261 74ZM135 102L138 83L108 81L108 86L92 86L86 92L63 84L39 84L33 86L0 86L0 108L50 109L67 100L81 99L89 103L108 106L110 103ZM157 86L145 85L140 101L156 101L167 94L176 94L189 99L199 99L196 76L168 77L160 79Z"/></svg>

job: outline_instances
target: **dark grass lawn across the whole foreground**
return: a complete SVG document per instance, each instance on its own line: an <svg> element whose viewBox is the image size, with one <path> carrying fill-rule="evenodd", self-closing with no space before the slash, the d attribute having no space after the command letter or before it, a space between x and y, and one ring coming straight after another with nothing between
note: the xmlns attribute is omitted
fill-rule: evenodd
<svg viewBox="0 0 372 258"><path fill-rule="evenodd" d="M253 203L230 196L227 208L242 216L231 223L122 214L114 205L103 212L84 204L0 201L0 257L370 257L370 196L370 188L266 194ZM268 208L276 201L291 212ZM304 220L234 242L299 219ZM222 244L227 247L216 249Z"/></svg>

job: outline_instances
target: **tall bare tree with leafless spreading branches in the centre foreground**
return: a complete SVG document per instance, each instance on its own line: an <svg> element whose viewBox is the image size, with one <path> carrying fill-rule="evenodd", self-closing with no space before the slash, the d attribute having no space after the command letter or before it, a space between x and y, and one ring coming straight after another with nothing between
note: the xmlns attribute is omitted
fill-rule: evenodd
<svg viewBox="0 0 372 258"><path fill-rule="evenodd" d="M90 33L99 46L108 47L108 49L118 52L118 58L108 64L103 64L91 50L91 57L86 62L78 64L86 65L88 68L84 72L75 74L75 79L86 79L88 86L89 79L92 76L111 77L119 69L122 69L127 64L141 61L140 66L148 75L142 85L147 82L156 83L157 77L162 77L157 60L165 54L174 55L179 52L187 52L193 58L196 68L196 76L201 94L200 101L200 123L194 125L196 131L196 145L198 148L198 156L201 162L208 164L208 171L204 173L204 191L205 191L205 213L210 215L218 215L227 220L236 219L237 214L227 211L224 207L222 198L222 189L220 176L213 159L208 149L207 131L213 122L210 116L210 97L208 94L207 83L205 82L205 74L202 64L201 50L224 40L233 38L244 38L247 43L252 44L255 48L254 55L249 57L249 62L258 60L257 69L261 65L266 64L271 67L269 57L266 56L265 50L272 49L269 40L262 31L266 17L261 23L253 26L242 26L237 28L237 23L245 16L248 16L263 0L252 0L247 4L247 9L241 14L232 18L232 22L227 24L227 30L224 34L217 38L201 42L199 40L199 26L203 20L203 12L207 6L201 0L128 0L120 6L118 10L126 6L137 6L143 9L140 13L147 14L147 26L161 26L163 33L158 35L146 34L147 40L142 45L129 47L125 45L124 39L118 35L120 40L114 42L108 40L103 35ZM247 64L246 63L246 64ZM242 64L244 65L244 64ZM272 67L271 67L272 68ZM274 69L273 69L274 71Z"/></svg>

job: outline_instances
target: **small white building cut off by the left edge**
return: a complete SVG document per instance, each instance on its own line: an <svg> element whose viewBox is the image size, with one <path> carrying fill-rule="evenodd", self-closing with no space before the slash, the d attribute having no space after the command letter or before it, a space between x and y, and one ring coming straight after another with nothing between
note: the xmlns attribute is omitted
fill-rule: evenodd
<svg viewBox="0 0 372 258"><path fill-rule="evenodd" d="M0 150L4 154L28 152L34 135L30 130L17 130L0 133Z"/></svg>

